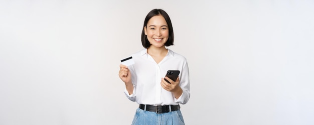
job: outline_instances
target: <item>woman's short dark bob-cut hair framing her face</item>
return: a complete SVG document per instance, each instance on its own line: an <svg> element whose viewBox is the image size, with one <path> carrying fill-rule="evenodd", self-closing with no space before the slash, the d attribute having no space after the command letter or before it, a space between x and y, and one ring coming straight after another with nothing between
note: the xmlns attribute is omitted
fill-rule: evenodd
<svg viewBox="0 0 314 125"><path fill-rule="evenodd" d="M171 20L170 20L170 17L169 15L167 14L166 11L164 11L163 9L152 9L150 12L148 12L148 14L146 15L145 17L145 20L144 20L144 25L143 25L143 28L142 28L142 35L141 35L141 41L142 41L142 45L144 48L148 48L150 46L150 43L147 39L147 35L145 35L145 31L144 31L144 27L146 26L147 27L147 22L148 20L152 17L152 16L155 16L155 15L162 15L165 19L166 19L166 22L168 24L168 28L169 28L169 37L168 37L168 40L166 41L165 45L166 46L170 46L170 45L173 45L174 44L174 30L172 28L172 23L171 23Z"/></svg>

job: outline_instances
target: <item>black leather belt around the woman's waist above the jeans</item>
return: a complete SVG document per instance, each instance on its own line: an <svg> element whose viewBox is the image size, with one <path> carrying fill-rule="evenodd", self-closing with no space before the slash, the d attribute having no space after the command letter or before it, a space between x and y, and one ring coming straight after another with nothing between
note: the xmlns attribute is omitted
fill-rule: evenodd
<svg viewBox="0 0 314 125"><path fill-rule="evenodd" d="M156 112L156 113L167 113L170 111L175 111L175 110L179 110L180 109L180 105L149 105L149 104L139 104L139 108L140 109L145 109L145 105L146 105L146 110L147 111L152 111L152 112ZM171 107L171 109L169 108Z"/></svg>

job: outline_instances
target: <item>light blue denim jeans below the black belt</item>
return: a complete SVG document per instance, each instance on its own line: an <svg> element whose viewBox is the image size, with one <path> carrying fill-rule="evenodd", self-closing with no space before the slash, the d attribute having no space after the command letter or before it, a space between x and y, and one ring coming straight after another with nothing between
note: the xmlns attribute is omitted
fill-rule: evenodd
<svg viewBox="0 0 314 125"><path fill-rule="evenodd" d="M171 111L168 113L156 113L152 111L144 111L137 108L133 121L133 125L164 125L175 124L184 125L183 116L180 110Z"/></svg>

